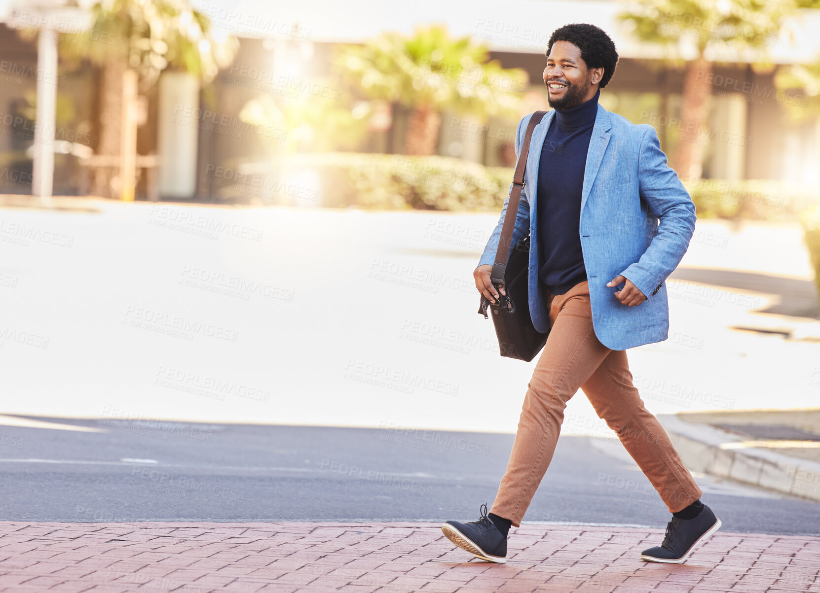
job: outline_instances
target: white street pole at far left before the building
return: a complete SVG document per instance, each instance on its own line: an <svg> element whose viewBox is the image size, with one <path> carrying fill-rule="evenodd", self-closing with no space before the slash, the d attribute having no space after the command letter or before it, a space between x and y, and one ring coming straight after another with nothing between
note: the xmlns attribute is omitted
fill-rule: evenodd
<svg viewBox="0 0 820 593"><path fill-rule="evenodd" d="M40 29L37 43L37 122L31 195L51 206L54 183L54 119L57 111L57 31Z"/></svg>

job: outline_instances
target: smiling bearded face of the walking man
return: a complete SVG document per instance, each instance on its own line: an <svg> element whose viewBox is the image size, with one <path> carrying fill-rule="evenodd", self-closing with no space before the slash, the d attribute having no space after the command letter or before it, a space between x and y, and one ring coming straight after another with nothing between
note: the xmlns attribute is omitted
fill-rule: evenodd
<svg viewBox="0 0 820 593"><path fill-rule="evenodd" d="M589 101L598 92L603 68L587 69L581 49L568 41L556 41L549 50L544 84L547 100L554 109L570 109Z"/></svg>

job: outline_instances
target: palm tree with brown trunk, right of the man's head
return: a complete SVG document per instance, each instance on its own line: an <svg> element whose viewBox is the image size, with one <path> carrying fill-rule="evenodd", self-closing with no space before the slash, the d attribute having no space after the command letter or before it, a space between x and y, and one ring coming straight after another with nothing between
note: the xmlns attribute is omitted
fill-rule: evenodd
<svg viewBox="0 0 820 593"><path fill-rule="evenodd" d="M683 179L699 179L704 146L699 143L708 120L712 95L712 61L734 50L736 57L766 62L776 43L783 18L793 6L769 0L643 0L630 3L617 18L633 25L641 41L667 49L667 57L681 57L686 40L695 58L686 61L681 102L681 138L672 160ZM727 60L728 61L728 60Z"/></svg>

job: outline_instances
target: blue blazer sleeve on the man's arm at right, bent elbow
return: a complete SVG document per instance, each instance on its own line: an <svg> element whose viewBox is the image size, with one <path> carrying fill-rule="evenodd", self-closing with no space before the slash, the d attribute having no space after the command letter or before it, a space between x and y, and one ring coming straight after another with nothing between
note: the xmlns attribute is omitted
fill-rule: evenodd
<svg viewBox="0 0 820 593"><path fill-rule="evenodd" d="M640 260L621 272L649 299L681 263L695 233L695 204L667 165L658 133L646 124L638 159L640 197L658 218L658 229Z"/></svg>

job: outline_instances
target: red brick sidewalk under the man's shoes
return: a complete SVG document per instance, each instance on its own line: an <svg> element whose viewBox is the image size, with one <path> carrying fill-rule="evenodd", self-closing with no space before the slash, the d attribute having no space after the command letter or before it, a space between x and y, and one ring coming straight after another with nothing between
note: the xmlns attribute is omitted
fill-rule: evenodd
<svg viewBox="0 0 820 593"><path fill-rule="evenodd" d="M649 564L662 529L513 530L507 564L436 523L0 523L0 591L818 591L820 538L717 532Z"/></svg>

